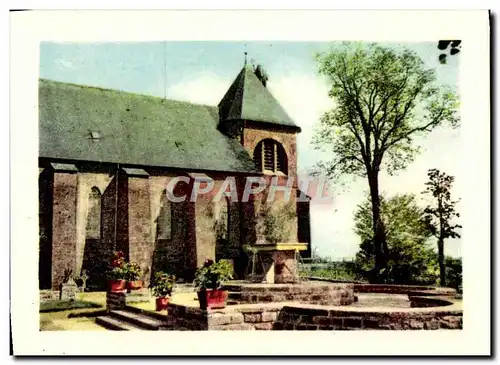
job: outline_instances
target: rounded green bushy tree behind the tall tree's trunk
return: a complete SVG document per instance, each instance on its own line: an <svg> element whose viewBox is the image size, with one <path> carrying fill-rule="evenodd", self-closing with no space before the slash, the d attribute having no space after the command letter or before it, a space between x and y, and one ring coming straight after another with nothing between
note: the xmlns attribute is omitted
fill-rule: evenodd
<svg viewBox="0 0 500 365"><path fill-rule="evenodd" d="M385 281L394 284L434 284L437 273L436 255L427 240L431 236L424 211L414 195L381 197L381 217L386 228L388 262ZM375 252L371 244L371 202L358 206L355 213L355 232L361 238L356 254L358 272L374 281ZM435 270L436 269L436 270Z"/></svg>

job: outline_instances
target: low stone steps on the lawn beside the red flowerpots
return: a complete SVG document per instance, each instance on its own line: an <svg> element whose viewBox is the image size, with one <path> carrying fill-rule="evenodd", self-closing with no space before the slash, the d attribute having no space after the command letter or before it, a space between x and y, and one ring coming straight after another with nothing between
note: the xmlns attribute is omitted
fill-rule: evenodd
<svg viewBox="0 0 500 365"><path fill-rule="evenodd" d="M168 328L164 315L144 312L129 306L110 310L107 315L97 317L95 322L112 331L158 331Z"/></svg>

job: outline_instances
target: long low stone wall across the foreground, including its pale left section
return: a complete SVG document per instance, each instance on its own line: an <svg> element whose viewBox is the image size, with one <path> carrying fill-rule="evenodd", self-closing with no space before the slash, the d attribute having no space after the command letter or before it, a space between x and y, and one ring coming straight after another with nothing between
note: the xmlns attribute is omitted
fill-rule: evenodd
<svg viewBox="0 0 500 365"><path fill-rule="evenodd" d="M461 311L338 311L305 305L257 304L202 311L169 305L170 330L437 330L462 329Z"/></svg>

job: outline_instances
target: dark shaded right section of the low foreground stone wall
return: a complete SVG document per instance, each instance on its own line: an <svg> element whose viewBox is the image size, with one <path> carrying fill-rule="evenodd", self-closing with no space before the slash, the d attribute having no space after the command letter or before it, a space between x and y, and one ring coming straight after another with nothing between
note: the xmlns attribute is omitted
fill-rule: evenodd
<svg viewBox="0 0 500 365"><path fill-rule="evenodd" d="M275 330L437 330L462 329L459 310L338 311L285 306Z"/></svg>

